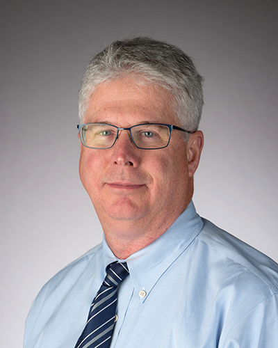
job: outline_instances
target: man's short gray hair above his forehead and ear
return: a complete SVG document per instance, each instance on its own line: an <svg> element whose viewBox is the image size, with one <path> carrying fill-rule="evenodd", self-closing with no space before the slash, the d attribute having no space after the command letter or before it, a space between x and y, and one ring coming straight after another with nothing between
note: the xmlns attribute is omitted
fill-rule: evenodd
<svg viewBox="0 0 278 348"><path fill-rule="evenodd" d="M179 47L145 37L117 40L92 58L79 89L80 122L98 84L130 75L139 77L139 84L164 88L172 96L181 126L191 132L198 129L204 104L203 78Z"/></svg>

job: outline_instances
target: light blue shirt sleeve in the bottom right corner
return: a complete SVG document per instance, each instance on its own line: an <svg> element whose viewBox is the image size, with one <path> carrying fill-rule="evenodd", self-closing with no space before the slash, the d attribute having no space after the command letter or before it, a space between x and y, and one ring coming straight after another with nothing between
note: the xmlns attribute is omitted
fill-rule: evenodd
<svg viewBox="0 0 278 348"><path fill-rule="evenodd" d="M278 294L258 303L231 328L223 348L278 348Z"/></svg>

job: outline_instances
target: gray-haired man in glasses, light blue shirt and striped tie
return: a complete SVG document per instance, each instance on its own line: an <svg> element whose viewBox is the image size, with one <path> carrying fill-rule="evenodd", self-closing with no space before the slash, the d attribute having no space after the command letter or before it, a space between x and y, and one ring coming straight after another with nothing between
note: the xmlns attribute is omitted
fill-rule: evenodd
<svg viewBox="0 0 278 348"><path fill-rule="evenodd" d="M135 38L92 59L80 177L104 241L44 285L24 347L278 347L278 265L195 212L202 105L177 47Z"/></svg>

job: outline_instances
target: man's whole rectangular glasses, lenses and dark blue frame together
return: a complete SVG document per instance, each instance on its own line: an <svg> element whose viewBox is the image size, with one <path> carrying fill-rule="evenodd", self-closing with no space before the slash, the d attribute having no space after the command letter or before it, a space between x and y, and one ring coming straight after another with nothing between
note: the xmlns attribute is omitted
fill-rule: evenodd
<svg viewBox="0 0 278 348"><path fill-rule="evenodd" d="M77 125L81 143L86 148L109 149L117 141L120 130L128 130L131 141L136 148L144 150L163 149L170 142L173 129L181 132L193 133L174 125L160 123L144 123L129 128L120 128L106 123L84 123Z"/></svg>

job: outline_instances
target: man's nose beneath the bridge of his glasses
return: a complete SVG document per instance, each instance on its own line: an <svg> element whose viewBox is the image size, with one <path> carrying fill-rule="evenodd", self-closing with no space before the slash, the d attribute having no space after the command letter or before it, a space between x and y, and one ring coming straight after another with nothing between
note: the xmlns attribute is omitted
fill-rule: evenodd
<svg viewBox="0 0 278 348"><path fill-rule="evenodd" d="M120 130L113 148L111 160L120 166L137 167L139 163L138 148L133 144L129 131Z"/></svg>

